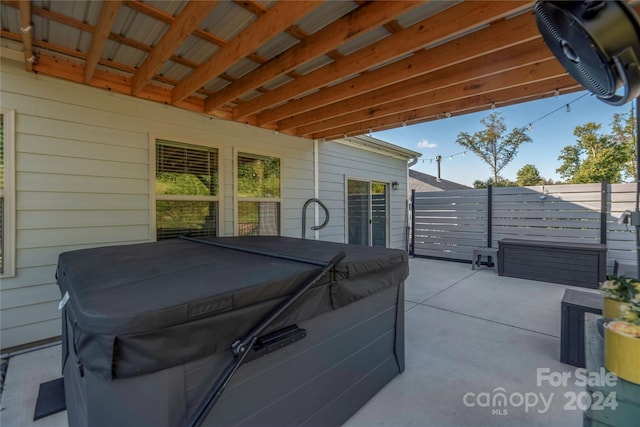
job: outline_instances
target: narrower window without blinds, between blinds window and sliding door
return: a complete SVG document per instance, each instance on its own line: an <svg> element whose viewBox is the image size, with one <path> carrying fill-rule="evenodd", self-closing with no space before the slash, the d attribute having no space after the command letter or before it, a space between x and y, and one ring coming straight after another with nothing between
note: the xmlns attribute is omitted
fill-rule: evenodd
<svg viewBox="0 0 640 427"><path fill-rule="evenodd" d="M280 234L280 159L249 153L237 155L238 235Z"/></svg>

